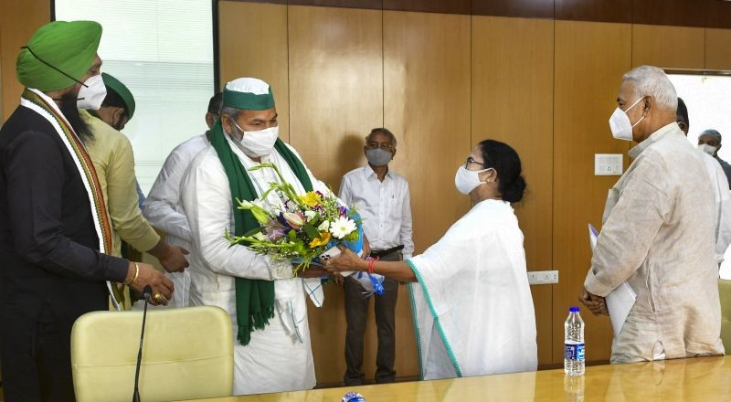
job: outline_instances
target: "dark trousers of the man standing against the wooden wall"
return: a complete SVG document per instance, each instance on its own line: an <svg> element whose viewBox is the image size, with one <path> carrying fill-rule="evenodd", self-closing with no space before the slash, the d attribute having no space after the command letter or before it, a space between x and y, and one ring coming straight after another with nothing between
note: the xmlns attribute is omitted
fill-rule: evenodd
<svg viewBox="0 0 731 402"><path fill-rule="evenodd" d="M401 255L394 252L381 257L385 261L399 261ZM356 274L355 274L356 275ZM376 354L376 383L392 383L396 379L394 359L396 358L396 301L398 297L398 281L386 279L383 282L384 294L369 298L363 296L363 287L351 278L345 278L345 365L347 369L343 380L346 386L359 386L365 380L361 371L363 366L363 334L368 317L368 305L371 299L376 304L376 326L378 327L378 352Z"/></svg>

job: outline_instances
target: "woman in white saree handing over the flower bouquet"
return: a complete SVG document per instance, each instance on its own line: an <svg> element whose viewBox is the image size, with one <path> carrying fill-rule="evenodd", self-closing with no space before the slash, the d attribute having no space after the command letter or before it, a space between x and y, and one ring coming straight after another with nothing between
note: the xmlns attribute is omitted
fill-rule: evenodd
<svg viewBox="0 0 731 402"><path fill-rule="evenodd" d="M361 270L409 283L423 379L532 371L535 313L523 233L511 203L525 182L514 149L486 140L455 176L471 210L439 242L407 261L368 261L344 252L331 271Z"/></svg>

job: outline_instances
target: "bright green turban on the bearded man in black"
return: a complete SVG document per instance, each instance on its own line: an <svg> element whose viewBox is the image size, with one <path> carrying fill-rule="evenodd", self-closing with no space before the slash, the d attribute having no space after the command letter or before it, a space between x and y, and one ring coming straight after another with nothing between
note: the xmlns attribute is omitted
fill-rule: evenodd
<svg viewBox="0 0 731 402"><path fill-rule="evenodd" d="M41 26L17 56L17 80L44 92L69 88L89 71L100 39L101 25L94 21Z"/></svg>

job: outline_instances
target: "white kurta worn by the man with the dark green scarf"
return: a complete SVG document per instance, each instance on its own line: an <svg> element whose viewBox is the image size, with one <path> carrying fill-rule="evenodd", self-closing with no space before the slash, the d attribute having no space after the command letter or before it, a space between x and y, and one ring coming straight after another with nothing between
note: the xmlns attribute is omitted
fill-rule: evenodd
<svg viewBox="0 0 731 402"><path fill-rule="evenodd" d="M254 163L227 138L245 168ZM291 148L290 148L291 149ZM294 150L292 149L292 152ZM295 153L296 154L296 153ZM297 155L299 157L299 155ZM302 159L301 159L302 160ZM262 163L276 164L284 179L298 193L304 189L279 153L261 158ZM315 190L328 192L322 182L308 170ZM249 172L258 194L267 183L278 181L271 169ZM231 192L228 177L216 150L208 147L198 153L183 179L183 209L190 223L191 248L190 304L214 305L231 316L234 336L234 395L260 394L309 389L315 386L313 352L307 323L306 292L302 280L291 278L291 265L272 264L244 246L229 247L224 231L234 230ZM279 199L272 192L270 203ZM235 279L275 280L274 297L277 314L264 330L251 333L247 346L238 344Z"/></svg>

